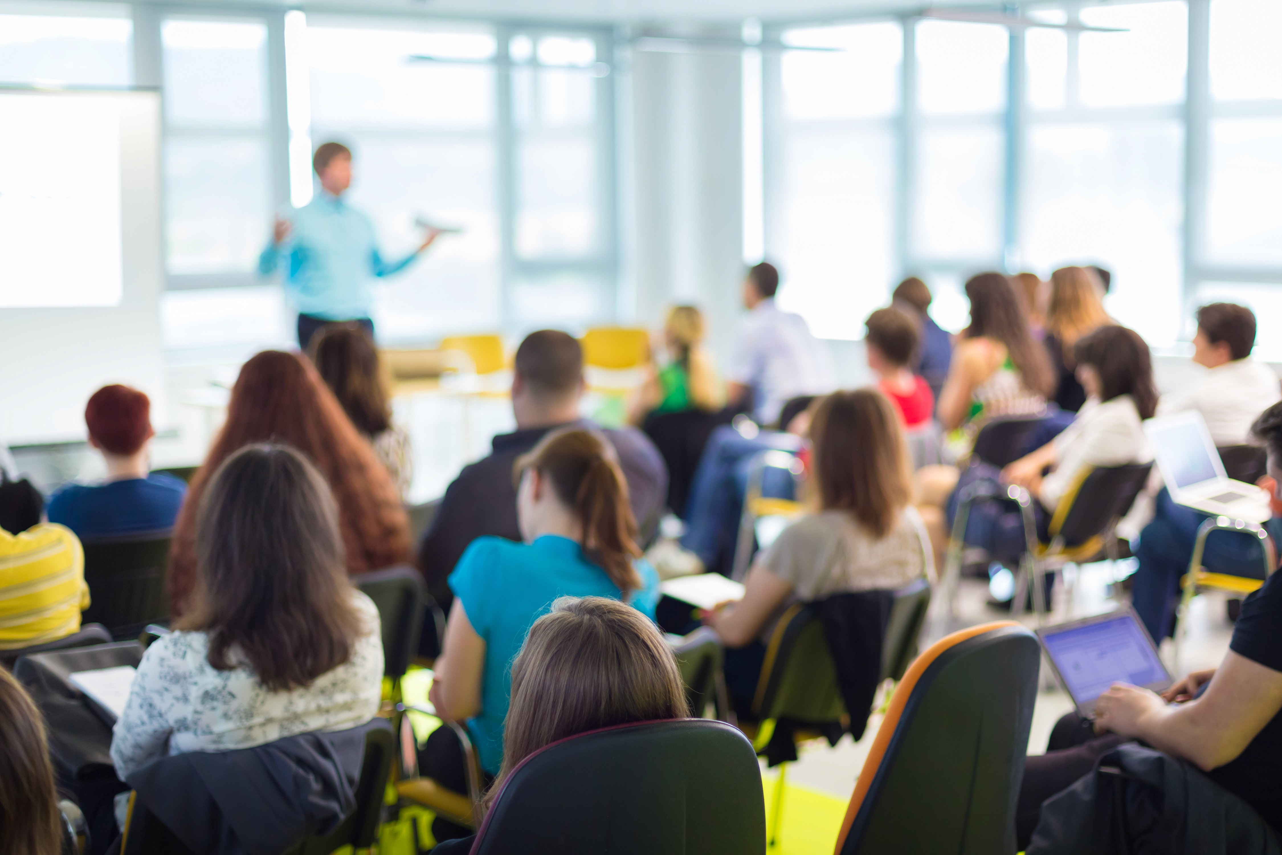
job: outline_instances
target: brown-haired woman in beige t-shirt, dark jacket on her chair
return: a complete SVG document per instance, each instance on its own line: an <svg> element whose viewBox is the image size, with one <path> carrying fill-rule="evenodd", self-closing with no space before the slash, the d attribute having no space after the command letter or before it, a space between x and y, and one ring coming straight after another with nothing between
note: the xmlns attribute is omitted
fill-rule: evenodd
<svg viewBox="0 0 1282 855"><path fill-rule="evenodd" d="M726 683L740 715L751 709L765 641L788 605L899 588L931 565L920 519L909 504L904 428L890 400L870 388L833 392L814 410L810 436L819 510L788 526L756 556L740 602L704 618L731 647Z"/></svg>

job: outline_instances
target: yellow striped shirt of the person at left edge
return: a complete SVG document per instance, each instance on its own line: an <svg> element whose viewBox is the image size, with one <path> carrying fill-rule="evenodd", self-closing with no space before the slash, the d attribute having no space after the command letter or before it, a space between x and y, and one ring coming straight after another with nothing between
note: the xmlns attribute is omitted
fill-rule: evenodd
<svg viewBox="0 0 1282 855"><path fill-rule="evenodd" d="M0 528L0 650L69 636L87 608L85 551L69 528L42 523L19 535Z"/></svg>

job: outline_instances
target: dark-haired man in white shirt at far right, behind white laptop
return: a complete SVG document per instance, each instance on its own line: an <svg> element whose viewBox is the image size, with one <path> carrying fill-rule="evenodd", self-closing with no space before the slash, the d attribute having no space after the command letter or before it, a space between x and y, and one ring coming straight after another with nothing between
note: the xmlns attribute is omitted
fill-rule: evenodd
<svg viewBox="0 0 1282 855"><path fill-rule="evenodd" d="M1232 303L1199 309L1194 361L1208 370L1163 395L1158 415L1197 410L1217 446L1245 444L1251 423L1282 397L1277 373L1251 359L1254 346L1250 309Z"/></svg>

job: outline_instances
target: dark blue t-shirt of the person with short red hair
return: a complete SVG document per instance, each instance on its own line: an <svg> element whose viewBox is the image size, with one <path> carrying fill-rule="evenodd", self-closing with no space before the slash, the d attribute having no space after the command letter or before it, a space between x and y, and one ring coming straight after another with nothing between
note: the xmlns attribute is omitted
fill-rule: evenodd
<svg viewBox="0 0 1282 855"><path fill-rule="evenodd" d="M173 528L187 485L153 473L100 485L69 483L49 500L49 522L62 523L81 538Z"/></svg>

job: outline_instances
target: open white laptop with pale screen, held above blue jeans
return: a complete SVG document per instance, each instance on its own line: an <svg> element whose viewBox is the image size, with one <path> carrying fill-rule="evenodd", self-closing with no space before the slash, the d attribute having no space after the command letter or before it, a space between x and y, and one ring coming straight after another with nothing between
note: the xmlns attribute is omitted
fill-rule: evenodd
<svg viewBox="0 0 1282 855"><path fill-rule="evenodd" d="M1251 523L1272 517L1268 492L1224 474L1224 464L1201 413L1194 410L1149 419L1144 432L1176 504Z"/></svg>

